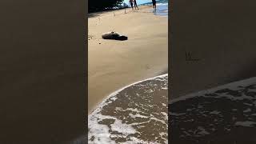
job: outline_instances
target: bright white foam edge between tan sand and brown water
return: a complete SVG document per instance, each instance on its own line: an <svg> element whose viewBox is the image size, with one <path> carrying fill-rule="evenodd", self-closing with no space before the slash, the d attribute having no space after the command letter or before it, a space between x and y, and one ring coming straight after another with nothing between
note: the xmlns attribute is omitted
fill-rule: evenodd
<svg viewBox="0 0 256 144"><path fill-rule="evenodd" d="M98 106L96 107L96 109L94 109L94 110L89 114L88 119L90 118L90 115L97 114L97 113L102 109L102 107L106 105L106 100L108 100L109 98L114 97L115 95L119 94L122 90L125 90L126 88L128 88L128 87L130 87L130 86L133 86L133 85L136 85L136 84L138 84L138 83L140 83L140 82L145 82L145 81L153 80L153 79L155 79L155 78L164 78L164 77L166 77L167 75L168 75L168 74L162 74L162 75L158 75L158 76L153 77L153 78L146 78L146 79L144 79L144 80L142 80L142 81L134 82L134 83L132 83L132 84L130 84L130 85L128 85L128 86L122 87L121 89L114 91L113 93L109 94L100 104L98 104Z"/></svg>

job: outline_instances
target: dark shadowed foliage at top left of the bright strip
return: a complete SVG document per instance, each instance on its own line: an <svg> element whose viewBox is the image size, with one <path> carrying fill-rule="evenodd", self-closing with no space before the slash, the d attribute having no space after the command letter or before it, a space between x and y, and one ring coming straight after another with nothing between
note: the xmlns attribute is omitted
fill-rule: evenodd
<svg viewBox="0 0 256 144"><path fill-rule="evenodd" d="M89 0L89 13L121 7L123 0Z"/></svg>

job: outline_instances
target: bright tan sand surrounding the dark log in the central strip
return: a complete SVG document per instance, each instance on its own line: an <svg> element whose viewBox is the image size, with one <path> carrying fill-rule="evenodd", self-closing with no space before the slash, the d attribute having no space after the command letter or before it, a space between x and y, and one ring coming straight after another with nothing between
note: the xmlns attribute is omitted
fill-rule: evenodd
<svg viewBox="0 0 256 144"><path fill-rule="evenodd" d="M168 18L154 15L152 7L92 14L88 20L88 110L111 92L130 83L167 73ZM104 40L111 30L127 41Z"/></svg>

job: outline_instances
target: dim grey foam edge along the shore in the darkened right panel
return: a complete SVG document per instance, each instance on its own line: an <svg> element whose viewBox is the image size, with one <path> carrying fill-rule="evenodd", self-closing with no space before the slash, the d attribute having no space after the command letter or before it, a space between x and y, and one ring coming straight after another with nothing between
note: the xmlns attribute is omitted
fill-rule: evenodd
<svg viewBox="0 0 256 144"><path fill-rule="evenodd" d="M198 91L198 92L192 93L192 94L186 94L182 97L174 98L173 100L171 100L169 102L169 104L172 104L172 103L178 102L178 101L182 101L182 100L186 100L186 99L189 99L189 98L194 98L195 96L200 96L202 94L213 93L217 90L221 90L221 89L225 89L225 88L232 88L232 87L236 87L236 86L244 86L244 85L242 85L244 83L246 83L246 85L256 83L256 77L247 78L247 79L237 81L237 82L231 82L231 83L228 83L226 85L217 86L217 87L214 87L214 88L211 88L211 89L201 90L201 91Z"/></svg>

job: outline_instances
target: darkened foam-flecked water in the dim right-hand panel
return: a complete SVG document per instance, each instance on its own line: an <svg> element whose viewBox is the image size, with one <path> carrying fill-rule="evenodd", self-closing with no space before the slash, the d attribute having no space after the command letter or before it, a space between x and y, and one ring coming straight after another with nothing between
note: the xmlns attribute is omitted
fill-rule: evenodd
<svg viewBox="0 0 256 144"><path fill-rule="evenodd" d="M256 143L256 78L169 103L171 143Z"/></svg>

